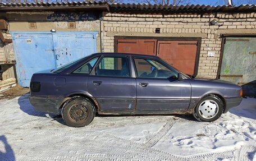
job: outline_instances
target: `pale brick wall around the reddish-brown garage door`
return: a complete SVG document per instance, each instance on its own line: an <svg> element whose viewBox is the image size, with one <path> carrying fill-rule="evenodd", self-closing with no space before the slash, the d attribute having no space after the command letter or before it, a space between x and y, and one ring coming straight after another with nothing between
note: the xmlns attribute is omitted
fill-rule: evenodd
<svg viewBox="0 0 256 161"><path fill-rule="evenodd" d="M114 52L114 36L201 37L198 77L216 78L221 53L221 34L256 34L256 13L208 15L150 15L103 13L103 49ZM209 25L216 20L218 24ZM155 29L161 28L161 34ZM215 52L208 57L208 52Z"/></svg>

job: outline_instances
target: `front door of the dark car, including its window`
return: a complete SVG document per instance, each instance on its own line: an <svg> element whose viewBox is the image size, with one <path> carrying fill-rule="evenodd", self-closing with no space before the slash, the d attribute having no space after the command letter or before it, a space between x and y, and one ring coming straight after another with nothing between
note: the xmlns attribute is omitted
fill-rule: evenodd
<svg viewBox="0 0 256 161"><path fill-rule="evenodd" d="M178 72L157 59L134 57L138 111L186 110L191 85L178 80Z"/></svg>

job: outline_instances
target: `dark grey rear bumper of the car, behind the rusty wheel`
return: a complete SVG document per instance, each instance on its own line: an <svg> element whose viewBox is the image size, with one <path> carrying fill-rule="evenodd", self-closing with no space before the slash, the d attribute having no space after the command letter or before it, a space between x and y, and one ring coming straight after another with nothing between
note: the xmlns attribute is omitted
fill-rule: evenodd
<svg viewBox="0 0 256 161"><path fill-rule="evenodd" d="M58 114L63 98L30 96L29 101L36 111Z"/></svg>

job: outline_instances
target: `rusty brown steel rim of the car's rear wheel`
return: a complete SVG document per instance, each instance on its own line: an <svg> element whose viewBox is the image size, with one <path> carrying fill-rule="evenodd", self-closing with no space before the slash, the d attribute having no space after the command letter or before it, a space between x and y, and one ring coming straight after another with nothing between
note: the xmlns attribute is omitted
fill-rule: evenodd
<svg viewBox="0 0 256 161"><path fill-rule="evenodd" d="M70 107L69 116L74 121L84 121L88 117L88 109L83 104L74 104Z"/></svg>

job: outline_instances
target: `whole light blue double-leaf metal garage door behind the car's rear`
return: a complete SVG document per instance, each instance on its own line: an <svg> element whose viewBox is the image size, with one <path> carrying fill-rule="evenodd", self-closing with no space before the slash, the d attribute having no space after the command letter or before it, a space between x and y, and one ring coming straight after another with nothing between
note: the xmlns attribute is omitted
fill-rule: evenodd
<svg viewBox="0 0 256 161"><path fill-rule="evenodd" d="M33 73L65 65L96 52L97 32L12 33L19 84Z"/></svg>

